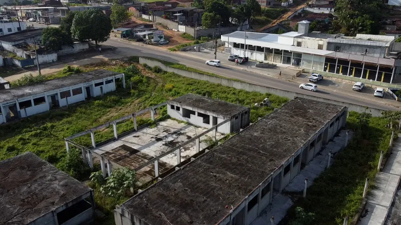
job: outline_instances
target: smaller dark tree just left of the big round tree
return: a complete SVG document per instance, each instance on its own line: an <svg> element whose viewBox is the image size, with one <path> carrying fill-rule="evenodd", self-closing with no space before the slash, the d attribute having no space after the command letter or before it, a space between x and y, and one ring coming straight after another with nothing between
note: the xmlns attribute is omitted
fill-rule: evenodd
<svg viewBox="0 0 401 225"><path fill-rule="evenodd" d="M54 51L61 50L63 45L72 46L71 36L59 27L48 27L43 29L42 44Z"/></svg>

